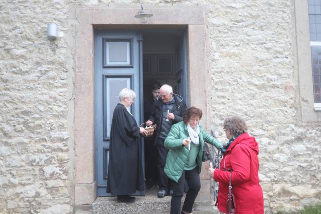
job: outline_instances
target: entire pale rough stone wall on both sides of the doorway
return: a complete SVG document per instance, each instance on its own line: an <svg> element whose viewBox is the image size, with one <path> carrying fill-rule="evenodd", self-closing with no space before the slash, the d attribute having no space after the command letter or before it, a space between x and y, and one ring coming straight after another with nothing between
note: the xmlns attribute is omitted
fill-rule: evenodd
<svg viewBox="0 0 321 214"><path fill-rule="evenodd" d="M321 123L297 118L293 0L2 1L0 213L69 213L74 203L74 9L195 8L207 22L211 126L238 114L260 145L267 212L321 198ZM62 37L51 41L47 24Z"/></svg>

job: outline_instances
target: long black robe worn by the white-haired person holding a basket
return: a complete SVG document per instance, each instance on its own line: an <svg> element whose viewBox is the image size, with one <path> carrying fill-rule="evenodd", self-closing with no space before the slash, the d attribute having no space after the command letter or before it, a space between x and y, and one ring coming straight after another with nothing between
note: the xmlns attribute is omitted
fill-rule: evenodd
<svg viewBox="0 0 321 214"><path fill-rule="evenodd" d="M144 190L141 148L135 118L118 103L110 130L107 192L128 195Z"/></svg>

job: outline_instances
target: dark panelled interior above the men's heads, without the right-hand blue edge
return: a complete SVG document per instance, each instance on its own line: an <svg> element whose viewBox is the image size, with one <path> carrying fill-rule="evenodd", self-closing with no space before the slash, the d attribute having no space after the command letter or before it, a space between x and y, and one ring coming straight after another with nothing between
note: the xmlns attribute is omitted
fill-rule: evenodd
<svg viewBox="0 0 321 214"><path fill-rule="evenodd" d="M169 84L177 92L177 56L182 36L179 32L143 33L143 93L150 98L151 87L158 81Z"/></svg>

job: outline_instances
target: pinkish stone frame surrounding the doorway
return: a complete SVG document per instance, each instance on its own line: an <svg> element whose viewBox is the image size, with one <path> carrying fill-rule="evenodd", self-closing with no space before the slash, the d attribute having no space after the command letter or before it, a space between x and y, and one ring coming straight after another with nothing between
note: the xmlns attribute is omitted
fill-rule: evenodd
<svg viewBox="0 0 321 214"><path fill-rule="evenodd" d="M208 101L210 90L206 65L205 9L148 9L154 14L148 25L140 24L134 15L137 9L78 8L75 10L77 24L74 43L74 149L70 166L75 168L72 185L74 204L81 207L91 205L96 198L95 140L94 140L94 30L157 30L187 29L187 87L190 106L202 107L202 124L208 127ZM172 17L171 20L168 17ZM120 18L120 19L119 19ZM72 40L73 38L69 38ZM140 65L142 66L142 65ZM203 72L200 72L203 71ZM142 78L142 77L141 77ZM193 80L193 84L191 84ZM204 106L205 105L205 106Z"/></svg>

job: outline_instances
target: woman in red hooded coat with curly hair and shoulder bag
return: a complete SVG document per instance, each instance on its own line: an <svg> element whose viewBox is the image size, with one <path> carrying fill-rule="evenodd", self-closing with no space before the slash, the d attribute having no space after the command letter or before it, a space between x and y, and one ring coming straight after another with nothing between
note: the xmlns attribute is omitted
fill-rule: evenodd
<svg viewBox="0 0 321 214"><path fill-rule="evenodd" d="M229 142L221 147L223 159L220 169L209 169L219 182L216 204L220 212L227 212L226 201L229 193L229 178L232 170L232 188L235 199L235 213L264 213L263 191L258 177L259 146L254 137L248 135L245 121L230 117L224 121L223 129Z"/></svg>

